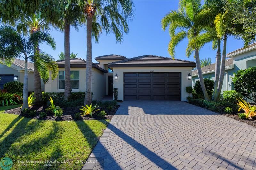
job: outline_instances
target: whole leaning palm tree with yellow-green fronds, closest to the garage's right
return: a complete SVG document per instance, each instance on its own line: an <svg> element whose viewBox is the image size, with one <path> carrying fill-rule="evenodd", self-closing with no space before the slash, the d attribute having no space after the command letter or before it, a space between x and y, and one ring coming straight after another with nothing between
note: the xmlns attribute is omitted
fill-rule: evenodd
<svg viewBox="0 0 256 170"><path fill-rule="evenodd" d="M204 23L202 22L202 18L200 16L201 10L202 8L200 0L181 0L180 10L171 11L162 19L162 28L165 31L165 29L169 26L171 40L168 45L168 51L173 59L175 57L175 47L180 41L188 38L189 42L186 49L186 55L189 57L194 51L198 77L204 93L204 98L205 100L210 100L205 88L201 70L199 58L200 45L194 45L194 41L196 41L197 37L200 35L200 32L204 31ZM180 29L180 31L175 33L177 29ZM204 44L206 41L208 42L209 40L207 38L202 38L200 44Z"/></svg>

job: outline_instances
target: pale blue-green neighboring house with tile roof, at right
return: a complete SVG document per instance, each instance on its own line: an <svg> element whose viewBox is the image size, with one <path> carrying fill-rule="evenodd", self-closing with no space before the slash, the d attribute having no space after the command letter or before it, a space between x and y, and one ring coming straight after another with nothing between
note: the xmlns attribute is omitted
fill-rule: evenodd
<svg viewBox="0 0 256 170"><path fill-rule="evenodd" d="M225 90L233 90L233 82L231 77L238 70L244 70L249 67L256 66L256 43L251 44L247 48L240 48L227 54L225 63L225 74L221 92ZM202 67L203 77L214 80L215 63ZM197 70L192 71L192 85L198 81Z"/></svg>

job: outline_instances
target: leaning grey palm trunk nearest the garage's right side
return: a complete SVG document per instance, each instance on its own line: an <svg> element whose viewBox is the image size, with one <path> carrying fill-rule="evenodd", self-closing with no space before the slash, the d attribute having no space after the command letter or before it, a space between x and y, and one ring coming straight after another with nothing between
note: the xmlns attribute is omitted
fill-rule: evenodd
<svg viewBox="0 0 256 170"><path fill-rule="evenodd" d="M206 91L206 87L204 85L204 78L203 78L203 74L202 74L202 70L201 70L201 64L200 64L198 49L195 50L195 58L196 58L196 68L197 68L197 72L198 72L198 78L199 78L199 82L200 82L202 91L204 93L204 99L209 101L210 98L209 98L209 95Z"/></svg>

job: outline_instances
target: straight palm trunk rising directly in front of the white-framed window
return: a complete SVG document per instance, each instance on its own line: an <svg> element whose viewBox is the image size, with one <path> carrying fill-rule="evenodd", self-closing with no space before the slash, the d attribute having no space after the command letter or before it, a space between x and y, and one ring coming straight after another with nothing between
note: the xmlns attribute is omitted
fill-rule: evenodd
<svg viewBox="0 0 256 170"><path fill-rule="evenodd" d="M65 100L71 94L71 81L70 81L70 41L69 41L69 34L70 34L70 24L65 19L65 26L64 26L64 56L65 56L65 90L64 90L64 98Z"/></svg>

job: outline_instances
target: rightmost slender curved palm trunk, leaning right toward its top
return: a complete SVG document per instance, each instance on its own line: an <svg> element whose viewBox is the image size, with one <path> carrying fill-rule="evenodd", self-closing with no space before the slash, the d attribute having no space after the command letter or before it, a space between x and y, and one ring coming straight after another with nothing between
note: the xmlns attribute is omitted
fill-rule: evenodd
<svg viewBox="0 0 256 170"><path fill-rule="evenodd" d="M226 62L226 47L227 47L227 34L224 35L224 39L223 39L222 60L221 60L221 65L220 65L220 78L219 78L219 81L218 81L218 88L217 88L217 92L216 92L215 97L214 97L214 101L219 100L222 85L223 85L224 72L225 72L225 62Z"/></svg>

